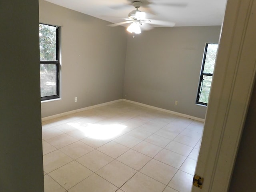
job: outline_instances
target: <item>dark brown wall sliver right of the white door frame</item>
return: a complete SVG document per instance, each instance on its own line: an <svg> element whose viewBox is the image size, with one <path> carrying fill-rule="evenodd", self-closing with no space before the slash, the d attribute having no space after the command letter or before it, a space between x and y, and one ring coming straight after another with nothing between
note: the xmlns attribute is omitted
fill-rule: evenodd
<svg viewBox="0 0 256 192"><path fill-rule="evenodd" d="M247 118L236 157L230 192L251 192L256 189L256 84L248 109Z"/></svg>

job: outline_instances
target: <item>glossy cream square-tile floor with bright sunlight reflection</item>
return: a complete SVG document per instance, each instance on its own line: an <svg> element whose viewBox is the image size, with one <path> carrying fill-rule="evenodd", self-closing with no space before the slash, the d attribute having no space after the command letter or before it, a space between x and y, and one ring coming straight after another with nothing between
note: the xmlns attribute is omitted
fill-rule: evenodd
<svg viewBox="0 0 256 192"><path fill-rule="evenodd" d="M190 192L202 129L129 102L44 121L45 192Z"/></svg>

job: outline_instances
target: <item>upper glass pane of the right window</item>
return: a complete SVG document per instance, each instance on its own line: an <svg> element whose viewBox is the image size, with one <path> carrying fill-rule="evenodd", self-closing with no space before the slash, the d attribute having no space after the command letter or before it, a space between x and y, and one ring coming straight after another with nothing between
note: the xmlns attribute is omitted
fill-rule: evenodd
<svg viewBox="0 0 256 192"><path fill-rule="evenodd" d="M204 62L204 73L213 74L218 44L208 44Z"/></svg>

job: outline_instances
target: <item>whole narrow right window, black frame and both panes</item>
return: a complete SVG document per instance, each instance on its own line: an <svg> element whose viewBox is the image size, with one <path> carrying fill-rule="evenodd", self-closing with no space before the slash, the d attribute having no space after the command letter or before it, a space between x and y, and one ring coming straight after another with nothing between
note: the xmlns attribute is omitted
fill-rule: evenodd
<svg viewBox="0 0 256 192"><path fill-rule="evenodd" d="M216 43L206 43L205 45L204 58L196 97L197 104L208 104L217 49L218 44Z"/></svg>

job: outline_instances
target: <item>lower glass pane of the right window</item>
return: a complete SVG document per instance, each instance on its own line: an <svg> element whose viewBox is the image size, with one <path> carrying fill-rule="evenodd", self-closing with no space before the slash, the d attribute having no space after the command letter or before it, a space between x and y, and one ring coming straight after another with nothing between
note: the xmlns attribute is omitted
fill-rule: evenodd
<svg viewBox="0 0 256 192"><path fill-rule="evenodd" d="M212 76L203 76L200 92L199 92L199 102L208 103L208 98L210 94L210 88L212 84Z"/></svg>

